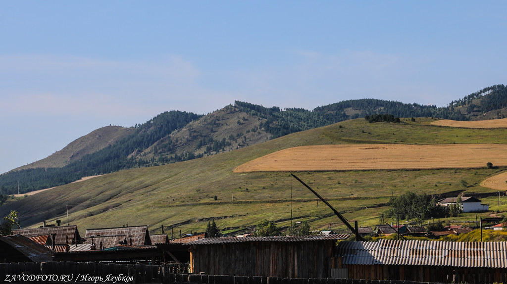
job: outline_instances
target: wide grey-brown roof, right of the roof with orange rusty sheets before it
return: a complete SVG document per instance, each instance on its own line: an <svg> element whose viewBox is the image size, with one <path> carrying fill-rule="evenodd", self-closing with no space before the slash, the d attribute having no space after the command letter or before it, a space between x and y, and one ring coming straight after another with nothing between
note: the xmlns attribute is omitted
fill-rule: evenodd
<svg viewBox="0 0 507 284"><path fill-rule="evenodd" d="M152 244L148 226L132 226L119 228L87 229L85 234L86 243L91 242L91 237L97 247L102 241L103 248L110 248L120 245L120 241L127 240L128 245L149 246ZM132 244L130 243L132 239Z"/></svg>

